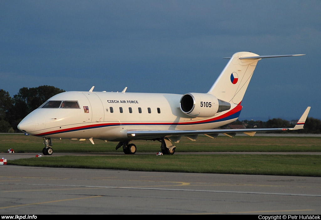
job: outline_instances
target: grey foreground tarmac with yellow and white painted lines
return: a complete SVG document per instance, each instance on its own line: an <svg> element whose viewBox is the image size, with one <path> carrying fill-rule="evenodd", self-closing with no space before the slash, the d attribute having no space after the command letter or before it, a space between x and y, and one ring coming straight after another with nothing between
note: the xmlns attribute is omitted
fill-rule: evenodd
<svg viewBox="0 0 321 220"><path fill-rule="evenodd" d="M0 177L2 215L317 215L321 210L318 177L13 165L1 165Z"/></svg>

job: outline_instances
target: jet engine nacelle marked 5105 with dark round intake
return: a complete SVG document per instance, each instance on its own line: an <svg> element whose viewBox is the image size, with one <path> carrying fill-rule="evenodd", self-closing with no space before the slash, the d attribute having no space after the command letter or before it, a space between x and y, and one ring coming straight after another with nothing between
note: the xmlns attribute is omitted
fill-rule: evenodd
<svg viewBox="0 0 321 220"><path fill-rule="evenodd" d="M180 109L193 117L212 117L231 108L231 104L208 93L187 93L180 100Z"/></svg>

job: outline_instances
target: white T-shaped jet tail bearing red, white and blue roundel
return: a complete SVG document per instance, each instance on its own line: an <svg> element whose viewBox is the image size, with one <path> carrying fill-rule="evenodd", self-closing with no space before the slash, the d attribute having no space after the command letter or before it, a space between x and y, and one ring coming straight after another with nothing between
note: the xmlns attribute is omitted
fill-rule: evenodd
<svg viewBox="0 0 321 220"><path fill-rule="evenodd" d="M244 97L257 61L263 58L301 55L304 54L259 56L251 52L235 53L230 58L230 61L223 69L208 93L223 101L239 104Z"/></svg>

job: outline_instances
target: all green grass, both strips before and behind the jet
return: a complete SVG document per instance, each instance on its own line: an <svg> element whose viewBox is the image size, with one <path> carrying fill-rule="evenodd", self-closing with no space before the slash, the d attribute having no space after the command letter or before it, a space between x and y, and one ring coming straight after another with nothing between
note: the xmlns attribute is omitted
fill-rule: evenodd
<svg viewBox="0 0 321 220"><path fill-rule="evenodd" d="M115 142L94 140L52 140L55 152L122 152ZM10 165L115 169L135 171L321 176L321 155L210 154L163 155L160 142L136 141L137 152L155 155L60 156L8 161ZM320 137L245 137L219 136L215 140L199 136L196 142L183 139L176 152L321 152ZM18 134L0 134L0 152L40 153L42 139Z"/></svg>

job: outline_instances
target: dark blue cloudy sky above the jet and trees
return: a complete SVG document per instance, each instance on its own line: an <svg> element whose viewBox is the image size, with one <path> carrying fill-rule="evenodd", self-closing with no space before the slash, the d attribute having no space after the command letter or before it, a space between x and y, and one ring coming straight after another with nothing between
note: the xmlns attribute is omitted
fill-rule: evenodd
<svg viewBox="0 0 321 220"><path fill-rule="evenodd" d="M0 88L206 93L238 51L258 62L240 119L321 119L321 1L0 1Z"/></svg>

